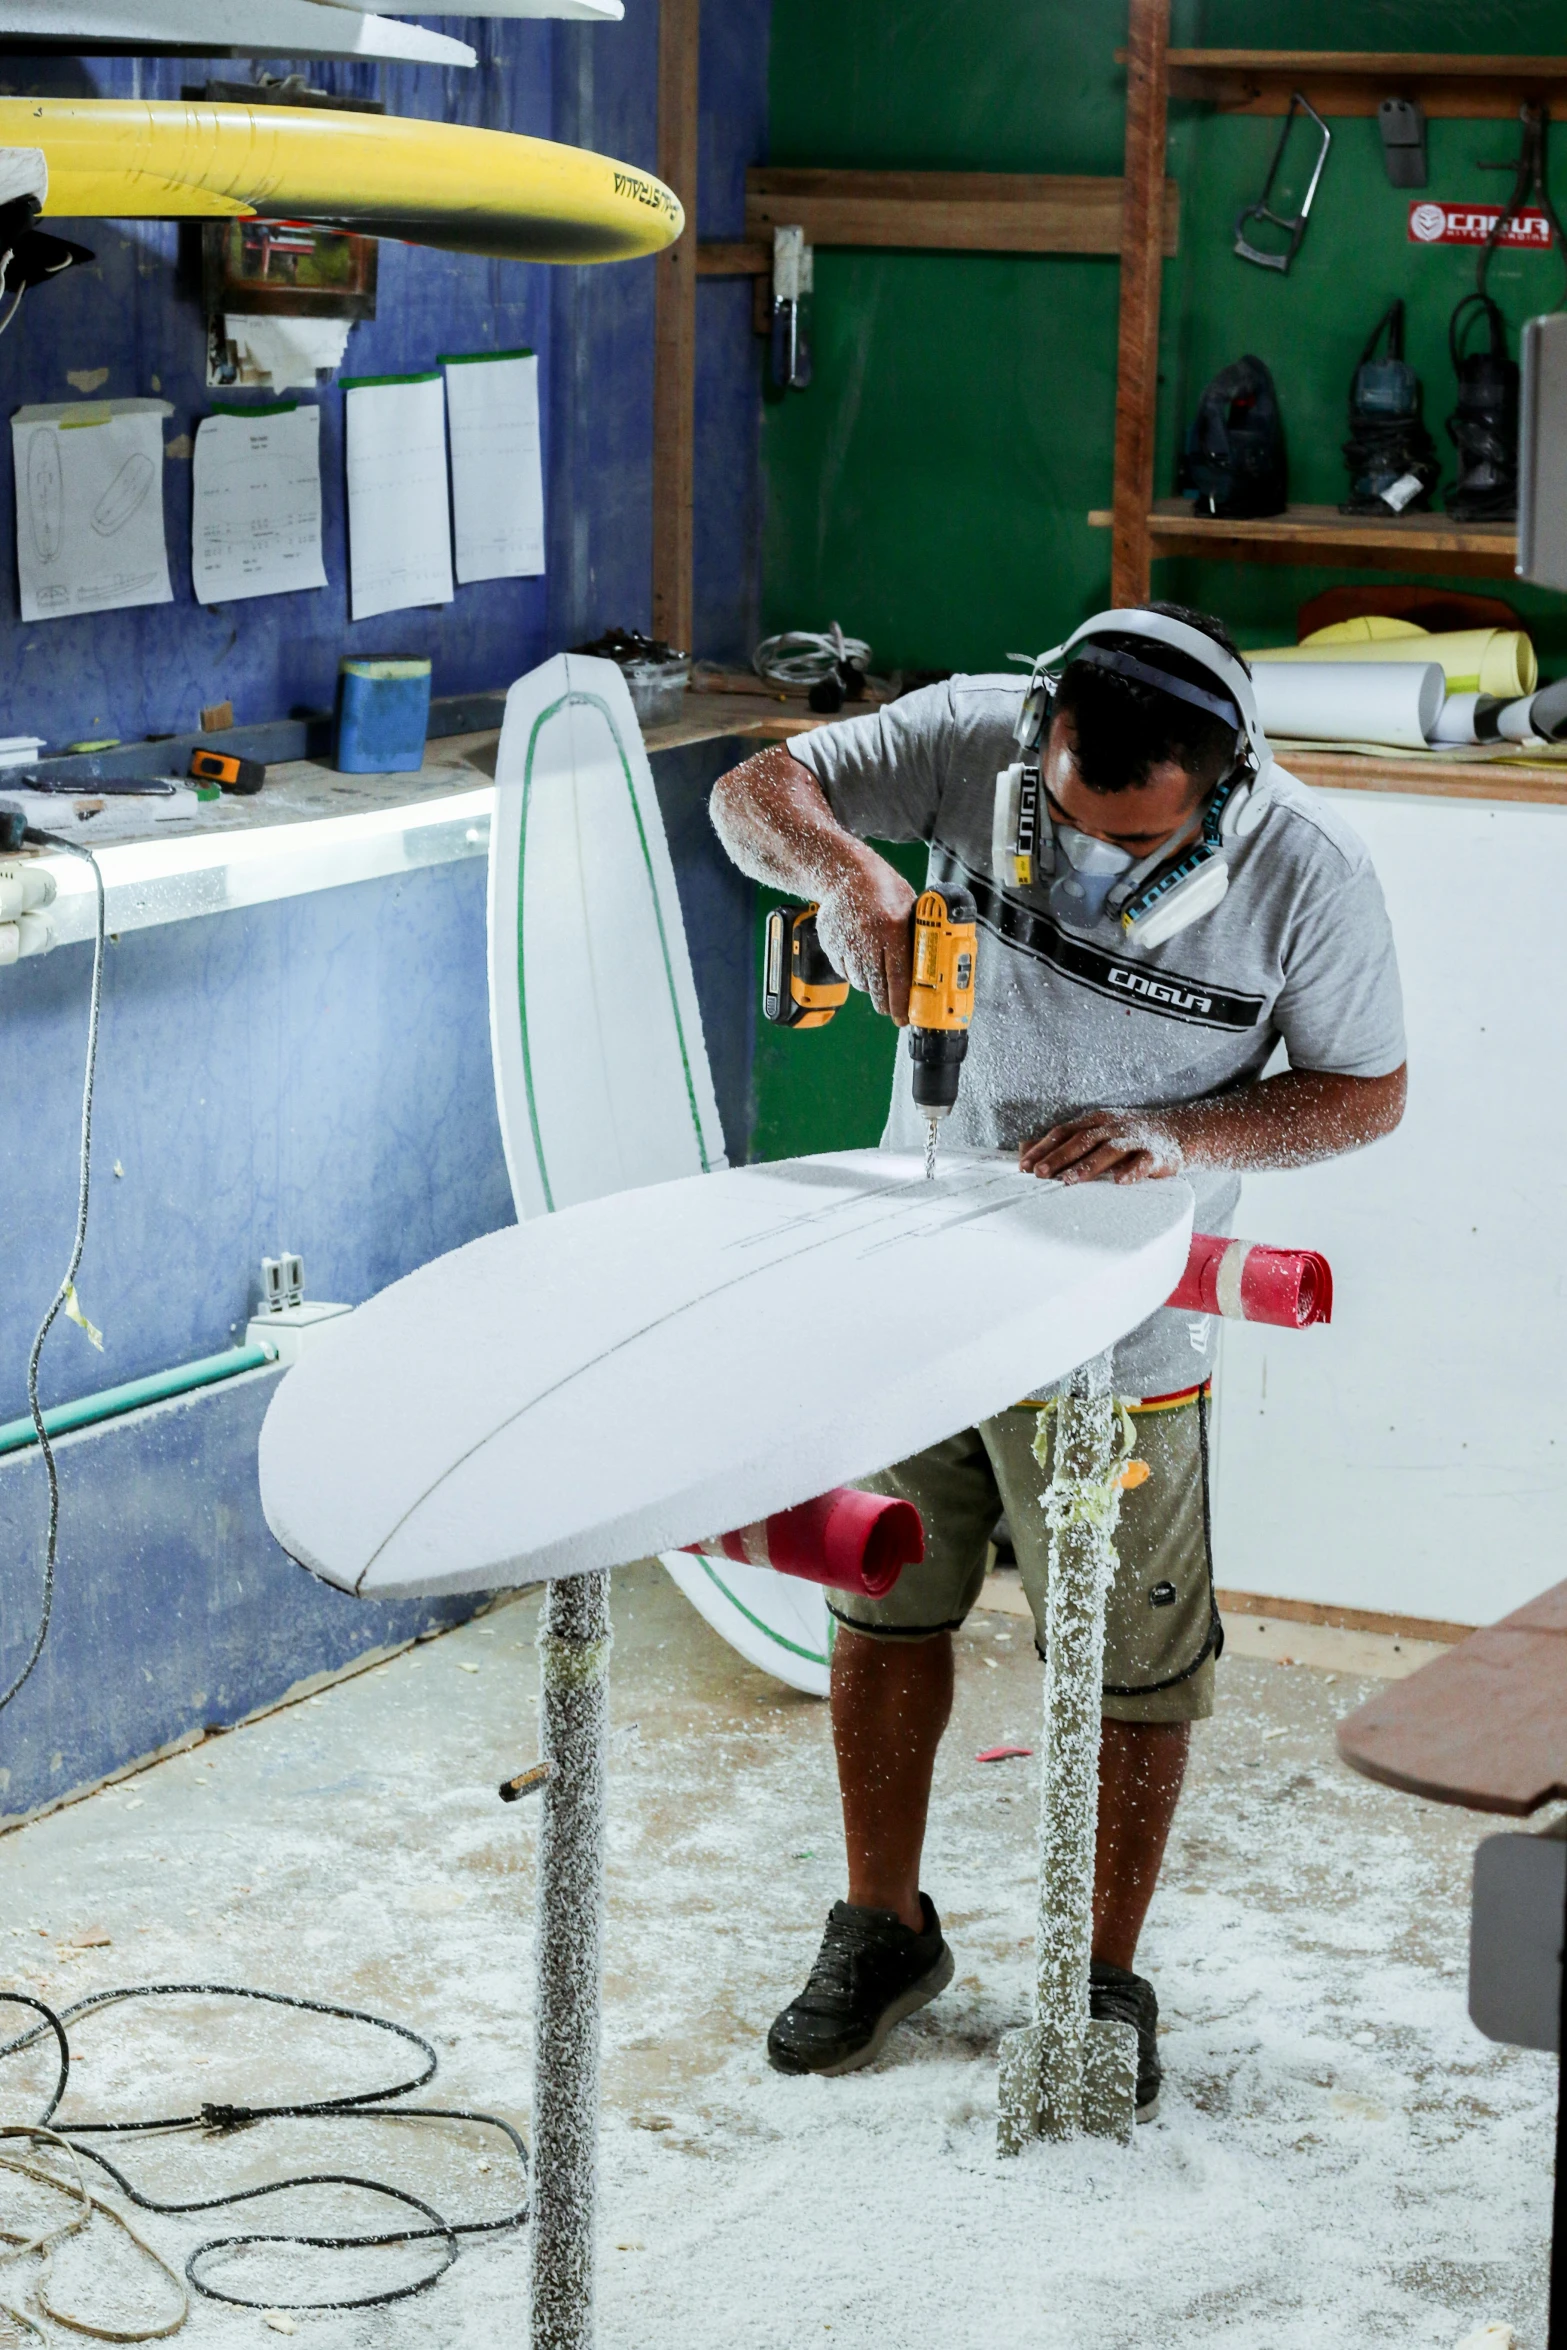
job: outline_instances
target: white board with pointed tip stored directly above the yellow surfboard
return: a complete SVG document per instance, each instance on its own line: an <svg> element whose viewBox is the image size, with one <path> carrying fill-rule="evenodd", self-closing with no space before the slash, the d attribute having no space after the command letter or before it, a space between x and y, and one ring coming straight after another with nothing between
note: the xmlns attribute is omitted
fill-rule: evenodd
<svg viewBox="0 0 1567 2350"><path fill-rule="evenodd" d="M413 14L409 9L406 14ZM475 52L449 33L388 24L336 0L0 0L0 33L49 40L113 40L125 47L186 49L193 56L357 56L425 66L472 66Z"/></svg>

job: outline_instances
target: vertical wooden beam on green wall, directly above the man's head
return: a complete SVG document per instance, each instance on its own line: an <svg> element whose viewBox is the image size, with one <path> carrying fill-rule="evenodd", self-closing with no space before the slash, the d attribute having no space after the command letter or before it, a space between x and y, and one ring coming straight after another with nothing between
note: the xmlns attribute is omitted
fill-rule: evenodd
<svg viewBox="0 0 1567 2350"><path fill-rule="evenodd" d="M1116 357L1116 494L1111 604L1146 604L1158 294L1165 249L1165 52L1170 0L1130 0L1125 66L1125 197L1121 204L1121 341Z"/></svg>

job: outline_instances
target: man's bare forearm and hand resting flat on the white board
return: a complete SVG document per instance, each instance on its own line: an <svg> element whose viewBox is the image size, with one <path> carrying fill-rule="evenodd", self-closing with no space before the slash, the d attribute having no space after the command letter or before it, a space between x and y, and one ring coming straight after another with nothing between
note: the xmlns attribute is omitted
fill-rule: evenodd
<svg viewBox="0 0 1567 2350"><path fill-rule="evenodd" d="M1388 1076L1285 1069L1259 1086L1170 1109L1088 1109L1024 1142L1024 1175L1060 1182L1151 1182L1193 1168L1302 1168L1391 1135L1405 1114L1407 1067Z"/></svg>

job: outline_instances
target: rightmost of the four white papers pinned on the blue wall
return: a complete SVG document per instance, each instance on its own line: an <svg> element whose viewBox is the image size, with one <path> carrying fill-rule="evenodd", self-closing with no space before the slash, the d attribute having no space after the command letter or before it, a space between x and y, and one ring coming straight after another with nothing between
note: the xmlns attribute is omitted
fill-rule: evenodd
<svg viewBox="0 0 1567 2350"><path fill-rule="evenodd" d="M458 578L538 578L545 569L538 360L531 350L498 350L442 367Z"/></svg>

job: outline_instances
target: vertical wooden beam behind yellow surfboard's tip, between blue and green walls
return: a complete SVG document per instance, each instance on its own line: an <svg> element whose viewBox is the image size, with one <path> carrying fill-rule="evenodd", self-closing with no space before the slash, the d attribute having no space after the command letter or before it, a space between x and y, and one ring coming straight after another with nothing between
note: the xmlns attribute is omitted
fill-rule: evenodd
<svg viewBox="0 0 1567 2350"><path fill-rule="evenodd" d="M686 228L653 261L653 634L691 651L695 494L695 155L700 0L658 5L658 176Z"/></svg>

